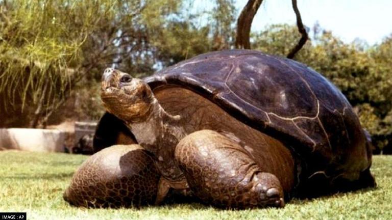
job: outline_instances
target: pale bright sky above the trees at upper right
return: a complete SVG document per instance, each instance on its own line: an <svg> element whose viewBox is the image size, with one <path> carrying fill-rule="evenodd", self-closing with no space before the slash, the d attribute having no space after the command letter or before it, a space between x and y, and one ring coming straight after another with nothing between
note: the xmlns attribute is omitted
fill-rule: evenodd
<svg viewBox="0 0 392 220"><path fill-rule="evenodd" d="M197 0L199 7L209 7L211 0ZM236 0L238 13L248 0ZM392 33L392 0L297 0L302 22L311 28L317 21L321 28L349 43L355 39L380 43ZM296 24L290 0L264 0L252 23L252 31L265 25Z"/></svg>

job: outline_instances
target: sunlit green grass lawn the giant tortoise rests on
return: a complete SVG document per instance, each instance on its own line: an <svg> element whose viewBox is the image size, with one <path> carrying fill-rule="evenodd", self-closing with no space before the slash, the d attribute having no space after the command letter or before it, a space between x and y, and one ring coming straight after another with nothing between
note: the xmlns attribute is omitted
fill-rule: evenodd
<svg viewBox="0 0 392 220"><path fill-rule="evenodd" d="M27 212L28 219L391 219L392 156L374 156L378 187L312 200L283 209L219 210L197 203L141 209L69 206L62 193L86 156L0 151L0 211Z"/></svg>

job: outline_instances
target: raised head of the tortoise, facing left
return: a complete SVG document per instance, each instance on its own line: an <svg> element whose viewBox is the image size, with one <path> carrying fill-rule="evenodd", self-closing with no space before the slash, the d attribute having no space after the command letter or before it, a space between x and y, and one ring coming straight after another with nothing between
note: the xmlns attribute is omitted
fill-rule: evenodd
<svg viewBox="0 0 392 220"><path fill-rule="evenodd" d="M152 111L154 96L141 79L107 68L102 76L101 98L106 110L127 122L143 121Z"/></svg>

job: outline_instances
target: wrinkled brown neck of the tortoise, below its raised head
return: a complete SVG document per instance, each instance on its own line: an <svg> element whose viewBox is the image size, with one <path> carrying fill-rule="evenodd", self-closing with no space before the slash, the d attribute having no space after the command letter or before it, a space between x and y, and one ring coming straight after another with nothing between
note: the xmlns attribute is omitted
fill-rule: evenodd
<svg viewBox="0 0 392 220"><path fill-rule="evenodd" d="M180 116L171 116L164 111L158 100L152 97L151 110L145 120L127 123L136 141L157 158L157 167L163 177L178 181L184 178L174 159L177 144L186 135L180 126Z"/></svg>

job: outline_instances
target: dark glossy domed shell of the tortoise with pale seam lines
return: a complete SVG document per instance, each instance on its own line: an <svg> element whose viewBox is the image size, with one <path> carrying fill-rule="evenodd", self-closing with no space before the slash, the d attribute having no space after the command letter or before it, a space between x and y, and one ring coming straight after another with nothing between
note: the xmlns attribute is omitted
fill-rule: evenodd
<svg viewBox="0 0 392 220"><path fill-rule="evenodd" d="M369 168L371 151L346 97L325 77L293 60L255 50L202 54L144 78L154 91L177 85L285 143L308 177Z"/></svg>

